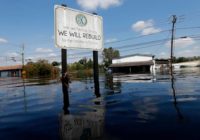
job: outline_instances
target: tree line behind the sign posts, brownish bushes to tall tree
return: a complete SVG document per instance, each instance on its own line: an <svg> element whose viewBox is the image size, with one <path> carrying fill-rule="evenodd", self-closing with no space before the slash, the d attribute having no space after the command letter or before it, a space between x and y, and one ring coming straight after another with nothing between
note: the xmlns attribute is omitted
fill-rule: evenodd
<svg viewBox="0 0 200 140"><path fill-rule="evenodd" d="M105 48L103 50L103 63L99 64L100 72L106 71L112 59L118 58L120 56L119 51L110 48ZM24 67L23 71L27 77L34 76L59 76L60 62L54 61L49 63L48 60L38 60L37 62L28 62ZM92 76L93 72L93 60L91 58L87 59L83 57L77 62L67 65L67 69L70 73L76 73L79 75Z"/></svg>

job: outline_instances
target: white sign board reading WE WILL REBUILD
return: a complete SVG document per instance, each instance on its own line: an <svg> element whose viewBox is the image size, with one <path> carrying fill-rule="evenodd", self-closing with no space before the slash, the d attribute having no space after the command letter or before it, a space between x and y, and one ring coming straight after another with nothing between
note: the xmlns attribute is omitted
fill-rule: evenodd
<svg viewBox="0 0 200 140"><path fill-rule="evenodd" d="M63 49L103 49L101 16L56 5L55 45Z"/></svg>

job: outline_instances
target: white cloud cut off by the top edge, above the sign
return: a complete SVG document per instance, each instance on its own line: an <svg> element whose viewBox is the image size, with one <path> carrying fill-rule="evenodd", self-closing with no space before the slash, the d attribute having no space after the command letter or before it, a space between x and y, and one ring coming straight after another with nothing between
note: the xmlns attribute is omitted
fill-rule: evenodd
<svg viewBox="0 0 200 140"><path fill-rule="evenodd" d="M108 9L110 6L119 6L122 0L76 0L84 10L94 11L97 8Z"/></svg>

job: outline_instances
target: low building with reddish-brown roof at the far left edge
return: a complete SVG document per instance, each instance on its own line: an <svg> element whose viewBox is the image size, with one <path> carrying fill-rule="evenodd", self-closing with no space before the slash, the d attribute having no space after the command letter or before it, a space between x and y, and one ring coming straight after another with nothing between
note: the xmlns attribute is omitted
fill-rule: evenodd
<svg viewBox="0 0 200 140"><path fill-rule="evenodd" d="M0 77L20 77L22 65L0 66Z"/></svg>

